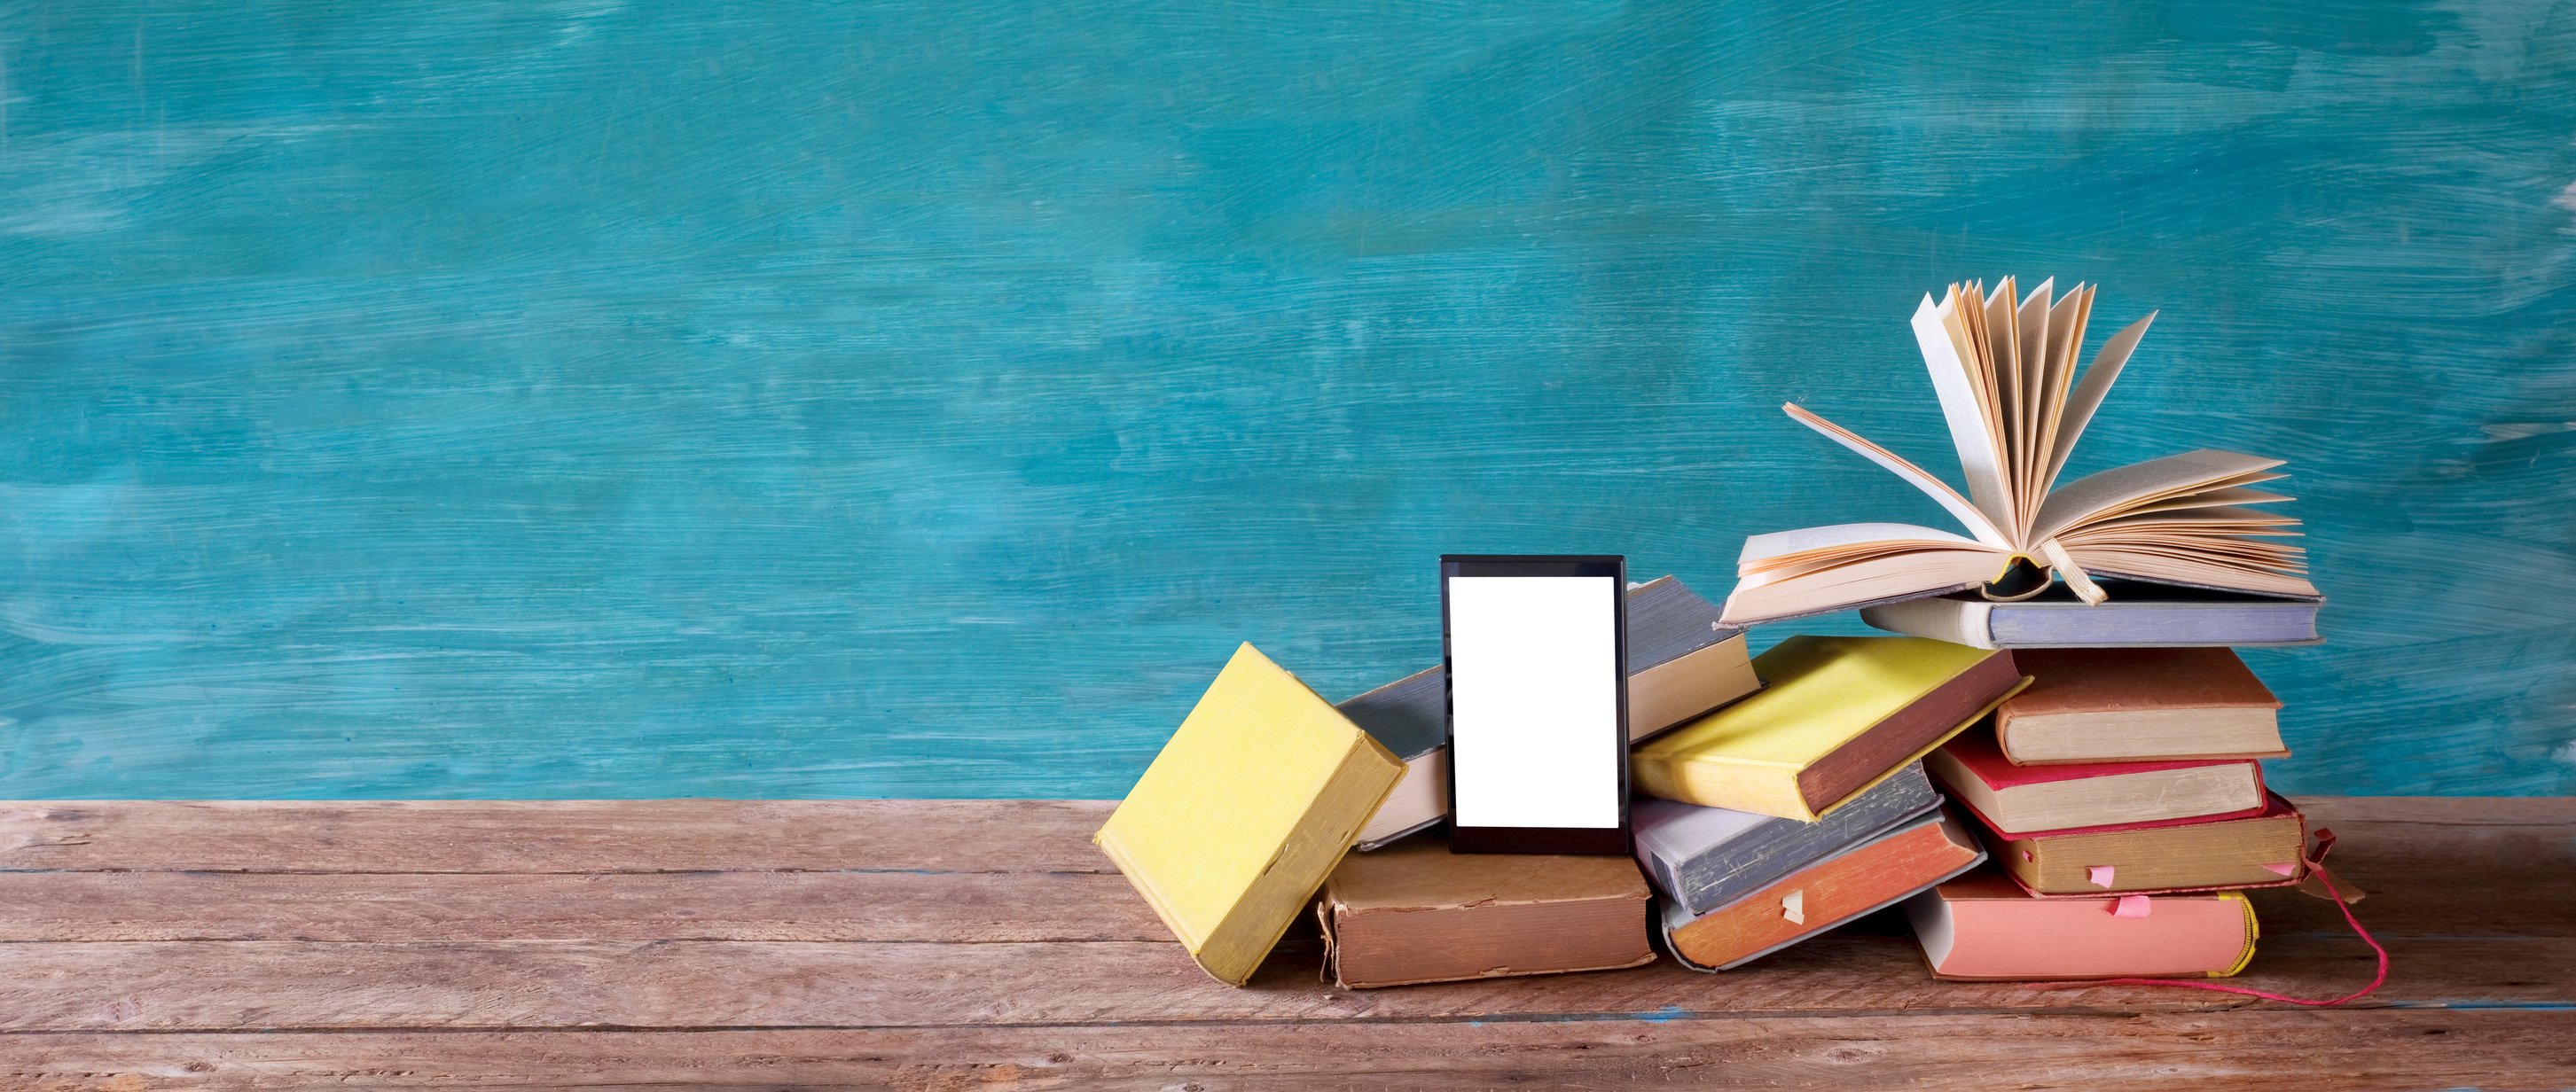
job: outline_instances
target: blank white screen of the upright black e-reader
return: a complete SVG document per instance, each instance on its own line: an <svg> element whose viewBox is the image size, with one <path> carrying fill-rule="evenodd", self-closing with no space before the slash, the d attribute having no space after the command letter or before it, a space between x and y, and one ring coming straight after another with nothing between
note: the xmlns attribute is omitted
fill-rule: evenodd
<svg viewBox="0 0 2576 1092"><path fill-rule="evenodd" d="M1618 579L1448 577L1461 827L1618 827Z"/></svg>

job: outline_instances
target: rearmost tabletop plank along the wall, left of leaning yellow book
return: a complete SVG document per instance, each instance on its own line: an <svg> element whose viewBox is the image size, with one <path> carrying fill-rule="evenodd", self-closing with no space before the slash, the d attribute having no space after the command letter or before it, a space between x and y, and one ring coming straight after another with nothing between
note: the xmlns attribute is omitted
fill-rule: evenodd
<svg viewBox="0 0 2576 1092"><path fill-rule="evenodd" d="M0 871L1110 873L1113 801L15 801Z"/></svg>

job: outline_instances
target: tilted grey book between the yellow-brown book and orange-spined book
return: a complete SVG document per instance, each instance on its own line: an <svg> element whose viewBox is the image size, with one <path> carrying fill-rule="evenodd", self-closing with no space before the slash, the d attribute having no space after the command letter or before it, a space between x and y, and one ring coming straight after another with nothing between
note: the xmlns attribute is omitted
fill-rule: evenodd
<svg viewBox="0 0 2576 1092"><path fill-rule="evenodd" d="M1636 863L1685 917L1726 907L1798 868L1904 827L1940 806L1922 762L1909 762L1819 822L1636 801Z"/></svg>

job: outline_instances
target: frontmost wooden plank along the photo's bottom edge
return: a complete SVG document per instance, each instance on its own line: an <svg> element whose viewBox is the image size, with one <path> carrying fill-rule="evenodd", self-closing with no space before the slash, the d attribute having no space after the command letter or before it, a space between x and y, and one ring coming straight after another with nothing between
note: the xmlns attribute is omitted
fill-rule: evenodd
<svg viewBox="0 0 2576 1092"><path fill-rule="evenodd" d="M2576 1012L2251 1010L708 1033L0 1035L13 1089L2424 1089L2576 1084Z"/></svg>

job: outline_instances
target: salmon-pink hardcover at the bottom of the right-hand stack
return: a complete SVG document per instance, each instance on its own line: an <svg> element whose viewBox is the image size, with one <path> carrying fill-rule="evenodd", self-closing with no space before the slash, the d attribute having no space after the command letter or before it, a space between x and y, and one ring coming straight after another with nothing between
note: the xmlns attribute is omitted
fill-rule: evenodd
<svg viewBox="0 0 2576 1092"><path fill-rule="evenodd" d="M2236 891L2032 899L1978 868L1906 901L1935 979L2223 979L2254 961L2254 904Z"/></svg>

